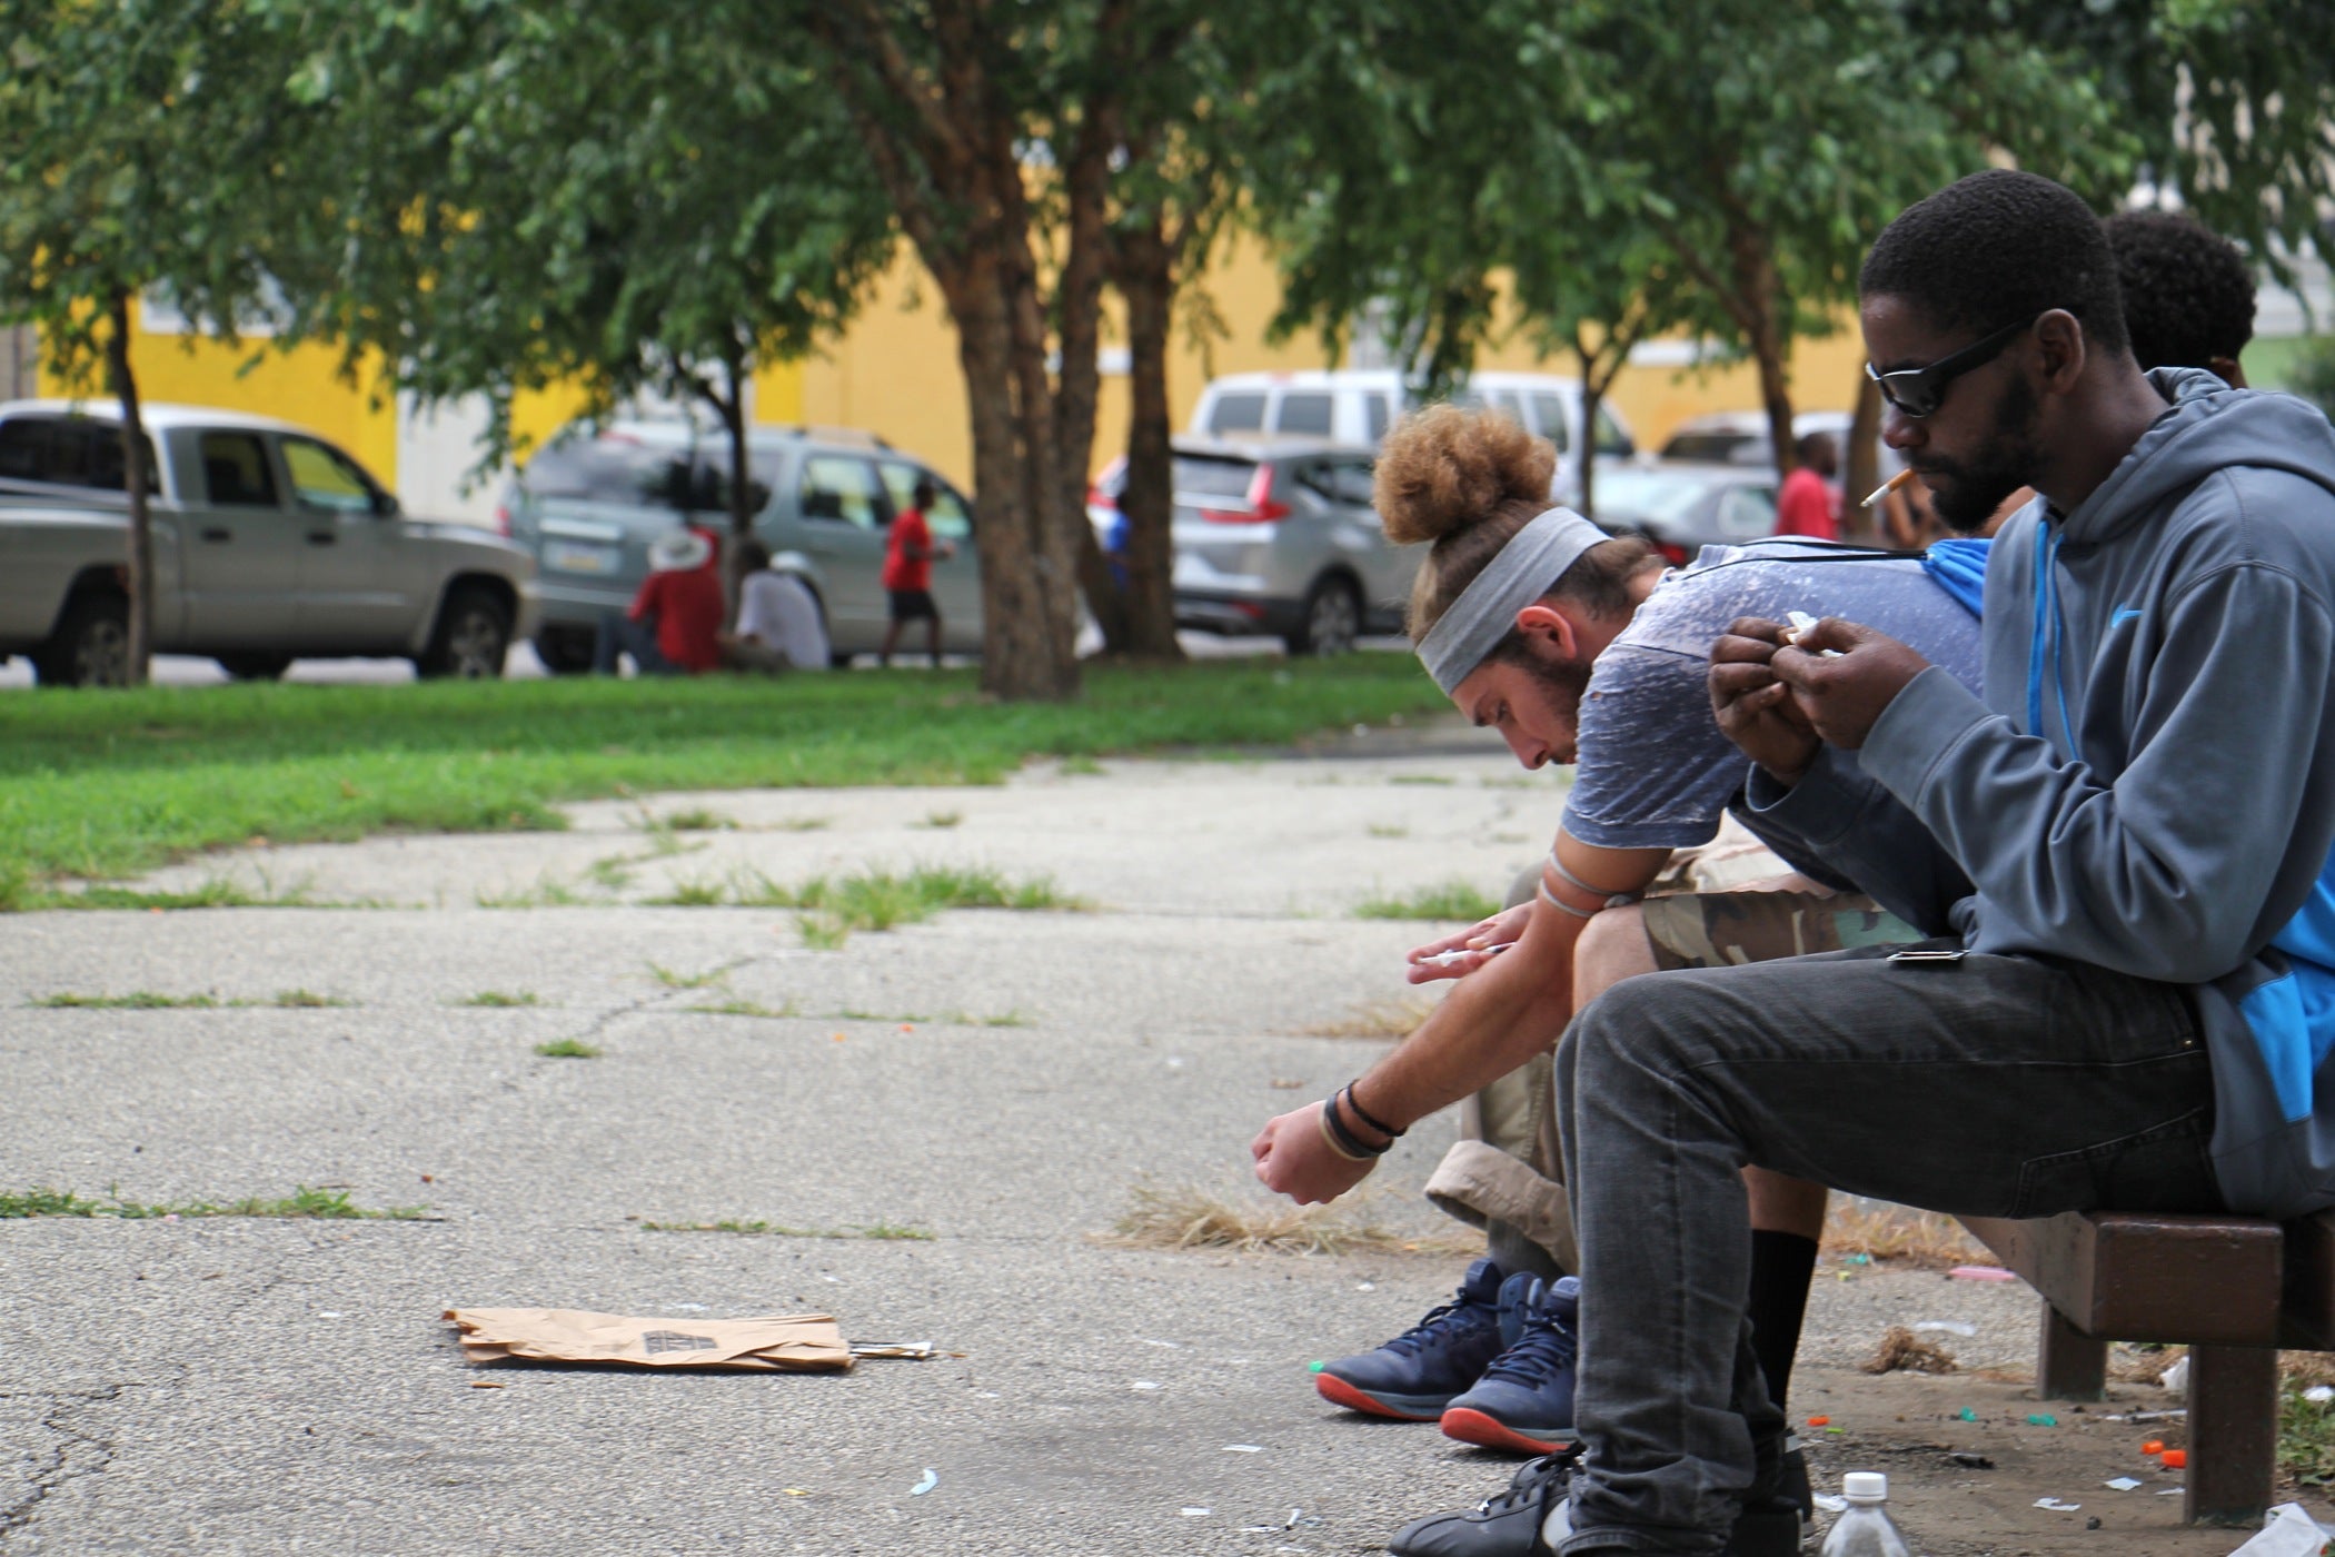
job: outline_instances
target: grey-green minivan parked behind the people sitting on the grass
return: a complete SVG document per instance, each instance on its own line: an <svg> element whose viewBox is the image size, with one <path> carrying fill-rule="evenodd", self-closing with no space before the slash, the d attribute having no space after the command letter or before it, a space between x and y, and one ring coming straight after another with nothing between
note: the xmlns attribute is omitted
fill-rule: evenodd
<svg viewBox="0 0 2335 1557"><path fill-rule="evenodd" d="M729 437L689 418L574 423L553 437L502 497L509 537L542 563L544 616L535 651L556 672L591 668L593 630L623 612L649 574L649 544L679 523L729 532ZM964 497L927 465L852 430L747 432L754 535L820 600L838 665L883 647L890 602L883 553L892 516L920 476L939 488L925 516L955 542L932 565L943 649L981 649L981 570Z"/></svg>

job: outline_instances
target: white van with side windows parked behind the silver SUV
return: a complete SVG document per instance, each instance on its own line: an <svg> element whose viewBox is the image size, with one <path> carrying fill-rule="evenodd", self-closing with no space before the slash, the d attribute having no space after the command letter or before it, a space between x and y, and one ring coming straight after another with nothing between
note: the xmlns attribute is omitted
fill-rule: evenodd
<svg viewBox="0 0 2335 1557"><path fill-rule="evenodd" d="M1471 373L1450 397L1457 406L1506 411L1529 432L1557 446L1553 497L1581 497L1576 448L1581 444L1581 380L1555 373ZM1191 430L1205 437L1245 432L1296 432L1340 444L1378 446L1403 411L1415 404L1394 369L1301 369L1291 373L1226 373L1200 390ZM1637 439L1611 404L1597 406L1597 458L1627 460Z"/></svg>

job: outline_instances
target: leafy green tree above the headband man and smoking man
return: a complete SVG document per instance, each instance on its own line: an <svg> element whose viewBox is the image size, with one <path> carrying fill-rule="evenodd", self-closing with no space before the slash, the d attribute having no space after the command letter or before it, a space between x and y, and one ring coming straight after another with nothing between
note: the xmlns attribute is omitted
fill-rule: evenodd
<svg viewBox="0 0 2335 1557"><path fill-rule="evenodd" d="M1329 177L1259 203L1284 320L1375 303L1429 385L1490 338L1499 273L1576 355L1688 327L1754 364L1779 469L1791 343L1833 327L1898 208L2001 147L2080 182L2132 166L2066 51L1922 30L1894 0L1494 0L1455 26L1366 7L1298 84L1291 163Z"/></svg>

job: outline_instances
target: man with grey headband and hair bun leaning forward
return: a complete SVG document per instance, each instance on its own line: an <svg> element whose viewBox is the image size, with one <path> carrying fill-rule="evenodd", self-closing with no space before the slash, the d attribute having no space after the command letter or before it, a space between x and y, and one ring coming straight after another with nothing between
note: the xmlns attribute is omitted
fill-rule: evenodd
<svg viewBox="0 0 2335 1557"><path fill-rule="evenodd" d="M1555 1282L1557 1265L1571 1268L1571 1237L1564 1191L1553 1184L1546 1055L1578 1004L1656 966L1912 934L1870 901L1831 896L1817 882L1637 901L1672 850L1712 838L1744 777L1742 752L1712 719L1712 642L1744 614L1861 612L1978 679L1975 600L1922 560L1793 539L1714 546L1665 574L1644 542L1543 511L1550 460L1546 444L1506 418L1445 406L1399 425L1378 462L1387 535L1434 542L1410 605L1429 675L1527 768L1578 754L1536 899L1413 952L1413 978L1466 978L1380 1064L1333 1099L1270 1120L1254 1146L1268 1186L1301 1202L1333 1200L1371 1172L1389 1125L1513 1074L1480 1113L1522 1116L1522 1127L1487 1134L1506 1134L1501 1144L1532 1162L1462 1141L1438 1174L1452 1181L1438 1200L1490 1221L1490 1258L1469 1270L1455 1303L1375 1352L1324 1363L1315 1384L1340 1405L1441 1419L1452 1436L1515 1452L1571 1438L1574 1284ZM1973 558L1957 563L1954 581L1966 584ZM1497 957L1471 950L1506 941L1513 950ZM1452 962L1427 964L1443 955ZM1777 1394L1821 1219L1819 1186L1751 1174L1765 1256L1756 1286L1768 1289L1761 1312L1775 1314L1763 1321L1763 1354L1777 1359ZM1501 1307L1508 1328L1520 1326L1506 1349Z"/></svg>

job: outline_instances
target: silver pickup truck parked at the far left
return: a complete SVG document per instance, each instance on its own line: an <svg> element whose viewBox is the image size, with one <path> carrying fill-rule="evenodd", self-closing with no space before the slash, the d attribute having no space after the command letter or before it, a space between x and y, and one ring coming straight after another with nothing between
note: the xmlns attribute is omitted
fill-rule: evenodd
<svg viewBox="0 0 2335 1557"><path fill-rule="evenodd" d="M259 416L145 406L154 651L234 677L294 658L402 656L497 677L535 633L535 560L469 525L409 518L325 439ZM0 656L44 684L128 668L121 420L103 402L0 402Z"/></svg>

